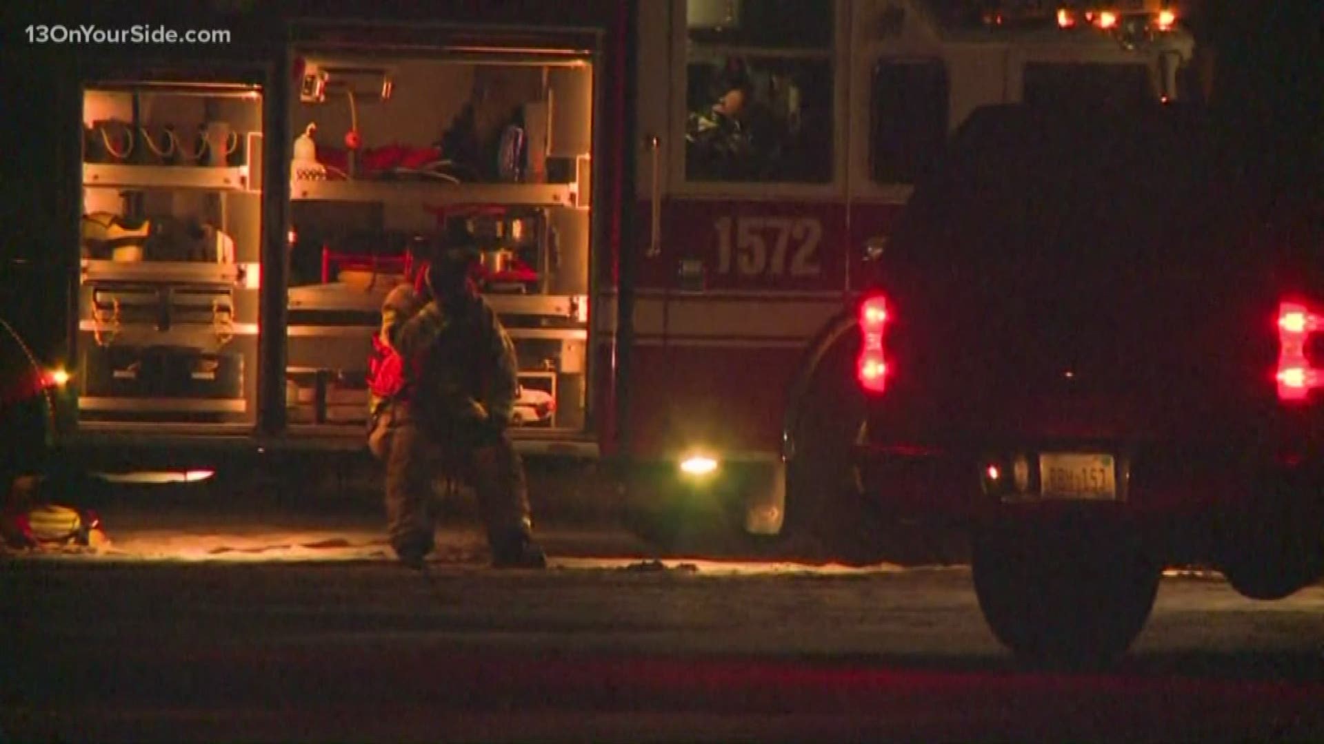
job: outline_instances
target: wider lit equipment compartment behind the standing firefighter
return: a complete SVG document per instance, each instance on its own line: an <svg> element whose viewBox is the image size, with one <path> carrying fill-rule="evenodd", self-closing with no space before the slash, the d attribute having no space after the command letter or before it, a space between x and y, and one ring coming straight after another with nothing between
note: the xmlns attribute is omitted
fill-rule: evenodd
<svg viewBox="0 0 1324 744"><path fill-rule="evenodd" d="M381 302L465 221L519 356L516 438L587 433L589 53L308 46L293 65L291 432L361 434Z"/></svg>

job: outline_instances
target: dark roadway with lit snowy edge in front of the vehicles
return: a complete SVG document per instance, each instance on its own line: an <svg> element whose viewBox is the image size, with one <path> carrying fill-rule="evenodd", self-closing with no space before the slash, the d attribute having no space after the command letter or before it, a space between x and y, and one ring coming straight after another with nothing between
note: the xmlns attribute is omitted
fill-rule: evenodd
<svg viewBox="0 0 1324 744"><path fill-rule="evenodd" d="M1324 588L1173 575L1117 666L1034 669L963 567L666 556L548 526L545 572L377 510L122 503L99 551L0 565L17 741L1324 739ZM3 737L0 737L3 740Z"/></svg>

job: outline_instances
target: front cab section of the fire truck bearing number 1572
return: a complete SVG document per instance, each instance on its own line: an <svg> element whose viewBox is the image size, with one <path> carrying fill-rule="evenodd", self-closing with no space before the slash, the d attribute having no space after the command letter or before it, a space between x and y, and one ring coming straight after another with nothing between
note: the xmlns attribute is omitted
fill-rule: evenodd
<svg viewBox="0 0 1324 744"><path fill-rule="evenodd" d="M845 349L912 184L980 106L1125 111L1198 87L1165 5L989 8L641 4L622 436L642 526L674 537L724 519L870 557L888 504L858 490L863 406Z"/></svg>

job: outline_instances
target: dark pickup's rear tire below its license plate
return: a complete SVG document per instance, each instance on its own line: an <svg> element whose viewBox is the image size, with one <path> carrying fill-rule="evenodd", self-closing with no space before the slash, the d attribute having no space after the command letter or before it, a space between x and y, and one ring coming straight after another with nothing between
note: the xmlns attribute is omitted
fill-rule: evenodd
<svg viewBox="0 0 1324 744"><path fill-rule="evenodd" d="M1092 520L981 526L974 593L993 634L1035 662L1106 663L1140 634L1161 567L1127 530Z"/></svg>

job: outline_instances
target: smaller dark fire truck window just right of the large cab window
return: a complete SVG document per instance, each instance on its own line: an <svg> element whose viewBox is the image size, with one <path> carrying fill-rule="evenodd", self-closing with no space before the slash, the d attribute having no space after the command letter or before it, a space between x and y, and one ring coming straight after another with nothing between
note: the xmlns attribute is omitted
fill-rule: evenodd
<svg viewBox="0 0 1324 744"><path fill-rule="evenodd" d="M947 142L943 62L880 62L874 69L871 164L878 183L915 183Z"/></svg>

